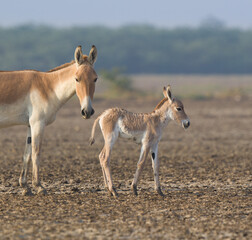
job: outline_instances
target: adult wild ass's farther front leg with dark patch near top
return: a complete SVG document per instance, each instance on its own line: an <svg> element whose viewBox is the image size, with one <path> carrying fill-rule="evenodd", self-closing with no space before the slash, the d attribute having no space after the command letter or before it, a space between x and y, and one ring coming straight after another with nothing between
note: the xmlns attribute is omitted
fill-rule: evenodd
<svg viewBox="0 0 252 240"><path fill-rule="evenodd" d="M23 167L19 178L19 185L25 188L23 192L24 195L32 195L31 189L27 185L27 173L29 170L30 160L31 160L31 128L28 127L25 151L23 155Z"/></svg>

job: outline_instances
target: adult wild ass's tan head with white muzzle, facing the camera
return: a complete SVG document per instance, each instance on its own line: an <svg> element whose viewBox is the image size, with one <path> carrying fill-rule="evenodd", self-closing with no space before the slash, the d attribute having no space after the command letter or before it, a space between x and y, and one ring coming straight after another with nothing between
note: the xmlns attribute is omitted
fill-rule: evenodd
<svg viewBox="0 0 252 240"><path fill-rule="evenodd" d="M77 65L75 74L76 94L80 101L81 114L83 118L88 119L94 114L91 101L94 96L95 82L98 78L93 68L97 58L97 49L93 45L89 56L87 56L83 55L81 46L78 46L75 50L74 57Z"/></svg>

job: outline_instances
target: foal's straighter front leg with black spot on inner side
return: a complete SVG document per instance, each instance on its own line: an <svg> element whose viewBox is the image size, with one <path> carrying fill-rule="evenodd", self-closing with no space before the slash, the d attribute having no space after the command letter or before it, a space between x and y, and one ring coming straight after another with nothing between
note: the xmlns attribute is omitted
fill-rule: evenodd
<svg viewBox="0 0 252 240"><path fill-rule="evenodd" d="M164 196L161 191L160 182L159 182L159 160L158 160L158 143L155 143L151 147L151 159L152 159L152 168L154 172L154 182L155 182L155 190L160 196Z"/></svg>

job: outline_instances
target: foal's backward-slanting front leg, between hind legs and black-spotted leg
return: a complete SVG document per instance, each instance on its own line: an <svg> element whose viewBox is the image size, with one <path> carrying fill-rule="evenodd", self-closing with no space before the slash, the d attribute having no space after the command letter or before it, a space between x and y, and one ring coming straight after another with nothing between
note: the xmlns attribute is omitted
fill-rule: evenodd
<svg viewBox="0 0 252 240"><path fill-rule="evenodd" d="M138 179L139 179L139 176L140 176L141 172L143 171L144 163L145 163L145 160L146 160L146 158L148 156L149 151L150 151L150 147L149 146L142 145L141 153L140 153L140 158L139 158L138 163L137 163L137 170L136 170L133 182L131 184L131 189L132 189L133 193L136 196L138 195L137 194Z"/></svg>

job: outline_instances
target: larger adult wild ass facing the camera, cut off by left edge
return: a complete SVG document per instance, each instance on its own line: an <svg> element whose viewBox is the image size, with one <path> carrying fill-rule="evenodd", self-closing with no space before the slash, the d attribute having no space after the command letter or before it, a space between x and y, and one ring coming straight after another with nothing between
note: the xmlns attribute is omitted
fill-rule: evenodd
<svg viewBox="0 0 252 240"><path fill-rule="evenodd" d="M0 128L13 125L28 127L23 168L19 178L19 184L26 195L32 194L27 185L31 159L32 185L37 193L46 194L39 179L39 156L44 128L55 120L57 111L76 93L82 116L88 119L94 113L91 101L97 80L93 69L97 49L92 46L87 56L83 55L81 46L78 46L74 57L75 61L48 72L0 72Z"/></svg>

